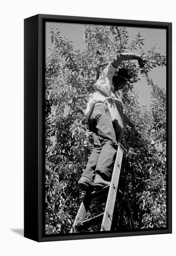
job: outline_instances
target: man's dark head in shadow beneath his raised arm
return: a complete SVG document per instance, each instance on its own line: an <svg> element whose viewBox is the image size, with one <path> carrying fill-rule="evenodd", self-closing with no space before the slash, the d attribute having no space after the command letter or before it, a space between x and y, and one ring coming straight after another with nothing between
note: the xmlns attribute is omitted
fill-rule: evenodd
<svg viewBox="0 0 176 256"><path fill-rule="evenodd" d="M112 77L114 90L118 91L120 89L123 89L126 82L129 80L130 80L130 74L128 73L128 70L124 67L119 68L118 71L116 71L114 76Z"/></svg>

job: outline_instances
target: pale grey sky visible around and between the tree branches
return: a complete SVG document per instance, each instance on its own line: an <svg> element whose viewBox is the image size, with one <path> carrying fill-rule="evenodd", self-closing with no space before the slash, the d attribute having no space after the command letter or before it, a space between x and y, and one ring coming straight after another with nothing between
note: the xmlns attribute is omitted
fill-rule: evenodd
<svg viewBox="0 0 176 256"><path fill-rule="evenodd" d="M59 23L59 22L46 22L46 57L50 53L52 43L50 39L50 28L59 27L62 36L68 38L73 42L74 50L84 50L85 43L83 40L84 36L84 25L74 23ZM137 33L143 35L144 40L144 52L147 52L156 44L156 47L160 48L162 54L166 53L166 29L155 29L155 28L143 28L143 27L127 27L129 32L129 42L135 38ZM133 51L134 53L140 54L140 49ZM155 67L149 73L150 78L153 82L160 87L166 88L166 67ZM140 105L150 106L150 92L151 88L147 85L145 77L139 74L141 79L136 83L134 89L139 91Z"/></svg>

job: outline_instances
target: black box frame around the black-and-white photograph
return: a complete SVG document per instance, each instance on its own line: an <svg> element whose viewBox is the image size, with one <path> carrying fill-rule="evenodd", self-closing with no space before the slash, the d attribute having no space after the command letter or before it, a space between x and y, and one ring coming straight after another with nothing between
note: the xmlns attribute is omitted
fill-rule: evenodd
<svg viewBox="0 0 176 256"><path fill-rule="evenodd" d="M167 228L131 232L45 234L45 22L69 22L166 29L167 38ZM38 14L24 20L25 145L24 236L38 242L172 232L172 23Z"/></svg>

